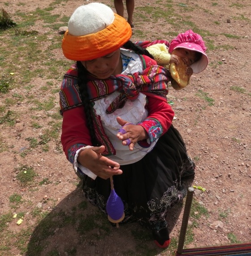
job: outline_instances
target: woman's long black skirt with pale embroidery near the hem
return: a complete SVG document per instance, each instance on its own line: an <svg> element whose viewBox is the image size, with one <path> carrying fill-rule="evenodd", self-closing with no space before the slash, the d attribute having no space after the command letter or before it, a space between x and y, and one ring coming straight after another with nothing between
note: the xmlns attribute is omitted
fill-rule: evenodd
<svg viewBox="0 0 251 256"><path fill-rule="evenodd" d="M156 146L136 163L122 165L123 174L113 176L116 194L124 203L126 221L139 221L151 230L167 227L166 213L186 195L182 181L194 177L195 164L187 155L179 132L171 126ZM110 179L85 176L85 197L106 213Z"/></svg>

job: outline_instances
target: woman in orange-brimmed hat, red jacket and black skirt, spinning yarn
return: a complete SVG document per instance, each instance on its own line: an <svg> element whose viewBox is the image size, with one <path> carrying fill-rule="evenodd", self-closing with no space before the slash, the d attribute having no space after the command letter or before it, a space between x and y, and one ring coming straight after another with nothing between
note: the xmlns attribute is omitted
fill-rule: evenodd
<svg viewBox="0 0 251 256"><path fill-rule="evenodd" d="M113 177L124 221L140 221L157 246L168 247L166 212L183 199L182 179L194 176L194 165L172 126L170 74L131 35L129 23L104 4L72 14L62 49L76 63L60 91L61 141L91 203L106 212Z"/></svg>

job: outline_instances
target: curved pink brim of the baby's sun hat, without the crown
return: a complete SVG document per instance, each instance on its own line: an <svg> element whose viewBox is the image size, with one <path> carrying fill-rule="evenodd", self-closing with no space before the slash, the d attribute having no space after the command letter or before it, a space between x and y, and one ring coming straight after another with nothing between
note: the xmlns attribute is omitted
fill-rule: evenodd
<svg viewBox="0 0 251 256"><path fill-rule="evenodd" d="M176 47L174 47L174 49L177 49L177 48L183 48L183 49L202 53L202 57L200 58L200 60L197 62L194 62L193 64L190 65L190 67L193 70L193 73L198 74L198 73L204 71L204 69L208 66L208 56L199 44L195 44L195 43L191 43L191 42L184 42L184 43L178 44Z"/></svg>

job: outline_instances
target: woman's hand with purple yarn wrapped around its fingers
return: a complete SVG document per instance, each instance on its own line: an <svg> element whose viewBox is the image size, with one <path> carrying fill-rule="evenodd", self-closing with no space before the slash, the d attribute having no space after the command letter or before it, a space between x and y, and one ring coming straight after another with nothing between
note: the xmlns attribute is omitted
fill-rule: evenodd
<svg viewBox="0 0 251 256"><path fill-rule="evenodd" d="M129 150L133 150L138 141L148 138L147 132L141 125L131 124L119 116L117 117L117 122L122 126L117 133L117 137L124 146L129 146Z"/></svg>

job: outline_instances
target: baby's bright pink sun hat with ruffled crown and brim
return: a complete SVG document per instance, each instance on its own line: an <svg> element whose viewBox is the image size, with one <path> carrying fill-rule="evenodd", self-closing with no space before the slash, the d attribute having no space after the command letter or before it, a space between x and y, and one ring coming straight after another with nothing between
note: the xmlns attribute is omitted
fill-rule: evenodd
<svg viewBox="0 0 251 256"><path fill-rule="evenodd" d="M206 54L205 43L199 34L194 33L191 29L185 33L177 35L170 43L169 53L176 48L184 48L192 51L202 53L202 57L197 62L191 64L191 68L194 73L200 73L204 71L208 66L208 57Z"/></svg>

